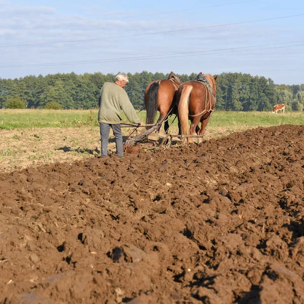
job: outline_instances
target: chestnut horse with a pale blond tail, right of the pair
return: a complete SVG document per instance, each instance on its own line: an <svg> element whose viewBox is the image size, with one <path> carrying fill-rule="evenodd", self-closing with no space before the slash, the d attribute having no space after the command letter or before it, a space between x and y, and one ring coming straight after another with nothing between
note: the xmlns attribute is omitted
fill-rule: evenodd
<svg viewBox="0 0 304 304"><path fill-rule="evenodd" d="M179 87L176 103L181 134L193 135L196 131L198 135L204 135L216 103L216 79L217 75L213 77L201 72L195 81L187 81ZM188 120L191 120L190 128ZM201 128L198 126L200 122ZM188 137L187 142L192 143L193 138Z"/></svg>

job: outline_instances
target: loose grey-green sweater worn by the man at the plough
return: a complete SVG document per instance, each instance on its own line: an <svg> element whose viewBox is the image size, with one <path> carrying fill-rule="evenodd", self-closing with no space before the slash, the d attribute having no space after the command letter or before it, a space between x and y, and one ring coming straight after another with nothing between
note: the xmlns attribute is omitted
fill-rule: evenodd
<svg viewBox="0 0 304 304"><path fill-rule="evenodd" d="M135 109L127 92L116 83L104 83L99 96L98 122L106 124L120 124L121 109L127 119L133 124L140 124Z"/></svg>

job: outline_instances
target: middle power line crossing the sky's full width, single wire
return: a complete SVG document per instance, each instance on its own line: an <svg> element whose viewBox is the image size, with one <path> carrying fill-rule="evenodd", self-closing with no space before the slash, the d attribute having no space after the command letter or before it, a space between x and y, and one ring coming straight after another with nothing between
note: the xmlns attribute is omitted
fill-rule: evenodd
<svg viewBox="0 0 304 304"><path fill-rule="evenodd" d="M299 16L304 16L304 14L289 15L289 16L267 18L267 19L258 19L258 20L251 20L251 21L242 21L242 22L236 22L236 23L226 23L226 24L218 24L218 25L174 29L174 30L166 30L166 31L151 32L151 33L132 34L132 35L102 37L102 38L93 38L93 39L81 39L81 40L69 40L69 41L60 41L60 42L46 42L46 43L36 43L36 44L0 46L0 48L42 46L42 45L53 45L53 44L61 44L61 43L88 42L88 41L98 41L98 40L126 38L126 37L135 37L135 36L144 36L144 35L155 35L155 34L164 34L164 33L180 32L180 31L187 31L187 30L203 29L203 28L214 28L214 27L223 27L223 26L230 26L230 25L239 25L239 24L253 23L253 22L259 22L259 21L278 20L278 19L285 19L285 18L299 17Z"/></svg>

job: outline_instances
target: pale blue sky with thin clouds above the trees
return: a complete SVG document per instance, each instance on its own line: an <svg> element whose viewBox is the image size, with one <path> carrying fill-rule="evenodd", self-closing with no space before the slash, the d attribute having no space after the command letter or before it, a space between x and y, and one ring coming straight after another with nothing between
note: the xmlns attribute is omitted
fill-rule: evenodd
<svg viewBox="0 0 304 304"><path fill-rule="evenodd" d="M304 15L249 22L304 14L304 2L245 1L0 0L0 78L231 71L304 83Z"/></svg>

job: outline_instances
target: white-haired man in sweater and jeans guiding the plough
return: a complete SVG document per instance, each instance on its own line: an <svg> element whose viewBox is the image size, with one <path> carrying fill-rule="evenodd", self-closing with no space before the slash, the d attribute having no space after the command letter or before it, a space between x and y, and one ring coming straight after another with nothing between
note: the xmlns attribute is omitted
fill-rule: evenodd
<svg viewBox="0 0 304 304"><path fill-rule="evenodd" d="M110 128L116 140L118 158L123 157L123 134L121 129L121 109L125 112L127 119L140 126L143 123L138 118L135 109L123 87L129 82L125 73L116 76L115 83L104 83L99 95L98 122L100 126L101 157L107 156L107 145Z"/></svg>

